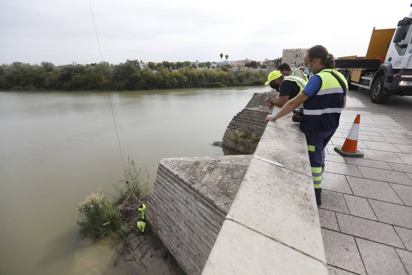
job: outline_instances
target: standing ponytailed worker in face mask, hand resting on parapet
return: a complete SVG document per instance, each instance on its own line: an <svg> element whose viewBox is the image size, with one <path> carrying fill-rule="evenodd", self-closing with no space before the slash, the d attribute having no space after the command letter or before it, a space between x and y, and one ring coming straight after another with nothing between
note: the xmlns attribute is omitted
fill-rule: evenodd
<svg viewBox="0 0 412 275"><path fill-rule="evenodd" d="M307 75L313 77L300 94L286 103L276 115L268 115L266 120L276 121L303 103L300 129L306 136L316 203L321 205L321 152L339 126L340 114L346 105L348 83L341 73L333 70L335 60L325 47L311 47L303 60Z"/></svg>

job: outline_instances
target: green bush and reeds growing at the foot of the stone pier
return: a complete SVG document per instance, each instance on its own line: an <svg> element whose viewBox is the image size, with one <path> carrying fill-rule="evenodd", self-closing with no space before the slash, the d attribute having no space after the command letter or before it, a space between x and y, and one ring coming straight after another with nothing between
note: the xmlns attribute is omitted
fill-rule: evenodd
<svg viewBox="0 0 412 275"><path fill-rule="evenodd" d="M80 233L92 240L112 237L115 242L124 244L129 233L140 234L136 228L137 221L141 220L137 208L147 203L149 196L149 181L146 181L145 175L148 179L147 170L142 172L131 160L124 179L120 181L121 186L115 186L115 195L100 190L100 193L91 193L84 202L80 202L77 220ZM111 197L111 201L108 197Z"/></svg>

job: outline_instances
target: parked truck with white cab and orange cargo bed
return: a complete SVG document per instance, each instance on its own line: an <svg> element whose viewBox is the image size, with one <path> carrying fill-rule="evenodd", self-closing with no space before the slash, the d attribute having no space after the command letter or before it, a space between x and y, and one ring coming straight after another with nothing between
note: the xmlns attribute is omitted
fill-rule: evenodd
<svg viewBox="0 0 412 275"><path fill-rule="evenodd" d="M412 6L412 5L411 5ZM412 13L397 28L373 28L365 56L335 60L349 89L370 90L373 103L384 103L391 95L412 96Z"/></svg>

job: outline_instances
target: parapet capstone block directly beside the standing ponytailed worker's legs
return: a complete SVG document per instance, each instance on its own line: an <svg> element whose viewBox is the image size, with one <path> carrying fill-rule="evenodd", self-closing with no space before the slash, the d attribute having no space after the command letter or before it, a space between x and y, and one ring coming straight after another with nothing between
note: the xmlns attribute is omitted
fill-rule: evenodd
<svg viewBox="0 0 412 275"><path fill-rule="evenodd" d="M293 141L295 146L290 146L290 141ZM311 176L306 139L302 132L293 133L267 127L256 148L255 156L279 162L287 169Z"/></svg>

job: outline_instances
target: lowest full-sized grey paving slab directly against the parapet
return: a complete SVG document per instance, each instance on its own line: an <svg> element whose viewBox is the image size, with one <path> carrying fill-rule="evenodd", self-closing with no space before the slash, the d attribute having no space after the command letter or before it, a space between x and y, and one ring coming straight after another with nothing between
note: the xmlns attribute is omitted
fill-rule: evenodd
<svg viewBox="0 0 412 275"><path fill-rule="evenodd" d="M322 229L326 262L358 274L366 274L353 236Z"/></svg>

